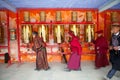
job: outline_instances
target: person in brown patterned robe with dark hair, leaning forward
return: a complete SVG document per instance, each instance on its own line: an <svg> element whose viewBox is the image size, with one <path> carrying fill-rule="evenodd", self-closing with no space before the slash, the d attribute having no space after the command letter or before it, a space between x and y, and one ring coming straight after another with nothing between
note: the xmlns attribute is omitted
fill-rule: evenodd
<svg viewBox="0 0 120 80"><path fill-rule="evenodd" d="M33 32L33 50L36 52L36 69L35 70L48 70L46 44L42 37L39 37L37 32Z"/></svg>

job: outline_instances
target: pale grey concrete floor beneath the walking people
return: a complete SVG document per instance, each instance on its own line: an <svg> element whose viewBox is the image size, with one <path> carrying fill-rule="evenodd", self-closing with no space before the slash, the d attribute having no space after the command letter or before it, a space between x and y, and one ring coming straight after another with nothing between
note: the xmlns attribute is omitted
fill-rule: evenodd
<svg viewBox="0 0 120 80"><path fill-rule="evenodd" d="M13 64L6 68L7 64L0 63L0 80L104 80L111 66L94 69L94 62L83 61L82 71L66 72L66 64L60 62L49 63L48 71L35 71L35 63ZM120 80L120 72L117 72L112 80Z"/></svg>

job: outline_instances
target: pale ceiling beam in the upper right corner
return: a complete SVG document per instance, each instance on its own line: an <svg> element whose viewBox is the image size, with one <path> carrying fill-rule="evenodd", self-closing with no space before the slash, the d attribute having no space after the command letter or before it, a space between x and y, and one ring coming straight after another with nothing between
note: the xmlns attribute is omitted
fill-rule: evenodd
<svg viewBox="0 0 120 80"><path fill-rule="evenodd" d="M109 0L107 3L103 4L100 8L99 8L99 12L103 12L117 4L120 3L120 0Z"/></svg>

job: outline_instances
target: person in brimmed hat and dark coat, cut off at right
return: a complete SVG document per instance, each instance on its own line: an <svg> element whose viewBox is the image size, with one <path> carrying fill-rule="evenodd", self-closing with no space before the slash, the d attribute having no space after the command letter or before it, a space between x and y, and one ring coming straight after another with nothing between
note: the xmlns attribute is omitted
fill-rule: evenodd
<svg viewBox="0 0 120 80"><path fill-rule="evenodd" d="M111 70L105 76L105 80L110 80L114 74L120 70L120 24L114 23L112 25L112 38L110 41L110 62Z"/></svg>

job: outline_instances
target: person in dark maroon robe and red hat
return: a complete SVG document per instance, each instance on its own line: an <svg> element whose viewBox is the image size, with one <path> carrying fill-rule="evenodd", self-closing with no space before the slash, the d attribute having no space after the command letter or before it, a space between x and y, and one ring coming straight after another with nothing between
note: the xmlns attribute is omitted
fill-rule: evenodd
<svg viewBox="0 0 120 80"><path fill-rule="evenodd" d="M105 67L109 65L109 61L107 59L107 50L108 50L108 42L105 37L103 37L103 31L97 31L97 39L95 40L95 67L96 69L100 67Z"/></svg>

